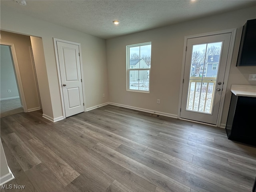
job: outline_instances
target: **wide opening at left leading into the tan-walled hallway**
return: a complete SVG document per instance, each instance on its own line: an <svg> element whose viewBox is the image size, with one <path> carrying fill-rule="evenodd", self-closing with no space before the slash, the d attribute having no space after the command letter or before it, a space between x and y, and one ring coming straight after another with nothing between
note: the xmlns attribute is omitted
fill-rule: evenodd
<svg viewBox="0 0 256 192"><path fill-rule="evenodd" d="M31 37L1 30L0 116L41 109Z"/></svg>

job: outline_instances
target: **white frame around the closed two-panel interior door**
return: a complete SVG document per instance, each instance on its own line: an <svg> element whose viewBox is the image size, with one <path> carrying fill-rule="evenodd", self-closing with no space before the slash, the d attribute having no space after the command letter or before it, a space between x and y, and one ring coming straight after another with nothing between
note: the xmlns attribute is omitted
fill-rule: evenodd
<svg viewBox="0 0 256 192"><path fill-rule="evenodd" d="M62 103L62 114L63 114L63 118L65 119L66 118L66 112L65 112L64 97L63 97L63 92L62 92L62 83L61 83L61 76L60 76L60 62L59 62L59 57L58 57L57 41L78 45L80 53L82 53L82 51L81 51L81 44L77 43L77 42L72 42L72 41L67 41L67 40L63 40L63 39L58 39L58 38L53 38L53 41L54 41L55 57L56 57L58 79L59 79L59 87L60 87L60 98L61 98L61 103ZM80 58L81 78L82 78L83 99L84 99L84 111L86 111L85 92L84 92L84 74L83 74L83 65L82 65L82 54L80 54L79 58Z"/></svg>

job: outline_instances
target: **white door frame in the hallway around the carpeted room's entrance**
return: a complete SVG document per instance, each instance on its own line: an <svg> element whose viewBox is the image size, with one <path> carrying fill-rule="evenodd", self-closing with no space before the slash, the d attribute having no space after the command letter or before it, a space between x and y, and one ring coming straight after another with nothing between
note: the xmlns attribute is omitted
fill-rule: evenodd
<svg viewBox="0 0 256 192"><path fill-rule="evenodd" d="M7 45L11 47L11 51L12 51L12 58L13 58L13 62L14 62L14 72L16 73L17 76L17 80L18 80L18 89L19 89L19 93L20 93L20 97L21 97L21 101L22 101L22 107L24 112L28 112L28 107L27 107L27 103L26 103L26 99L25 99L25 94L24 94L24 89L23 89L23 85L22 85L22 80L21 80L21 75L20 75L20 68L19 68L19 64L18 64L18 59L17 59L17 55L16 55L16 50L15 50L15 46L13 43L4 43L4 42L0 42L1 45Z"/></svg>

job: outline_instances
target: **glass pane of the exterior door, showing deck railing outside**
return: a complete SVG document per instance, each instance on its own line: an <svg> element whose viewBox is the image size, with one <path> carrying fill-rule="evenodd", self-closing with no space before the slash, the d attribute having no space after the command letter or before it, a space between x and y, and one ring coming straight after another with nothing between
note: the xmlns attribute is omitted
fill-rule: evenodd
<svg viewBox="0 0 256 192"><path fill-rule="evenodd" d="M222 42L193 45L186 110L211 114Z"/></svg>

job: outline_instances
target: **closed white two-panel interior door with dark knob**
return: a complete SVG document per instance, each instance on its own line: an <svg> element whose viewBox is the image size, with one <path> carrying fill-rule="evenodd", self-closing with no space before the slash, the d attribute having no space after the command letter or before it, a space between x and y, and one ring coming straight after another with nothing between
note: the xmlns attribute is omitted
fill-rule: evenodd
<svg viewBox="0 0 256 192"><path fill-rule="evenodd" d="M79 46L57 41L66 117L84 112Z"/></svg>

